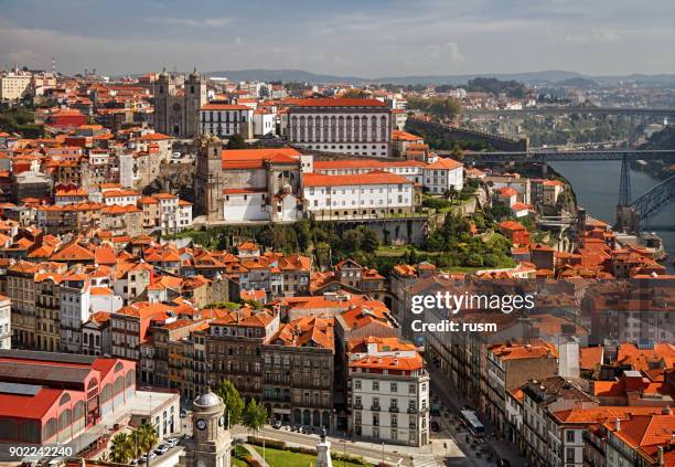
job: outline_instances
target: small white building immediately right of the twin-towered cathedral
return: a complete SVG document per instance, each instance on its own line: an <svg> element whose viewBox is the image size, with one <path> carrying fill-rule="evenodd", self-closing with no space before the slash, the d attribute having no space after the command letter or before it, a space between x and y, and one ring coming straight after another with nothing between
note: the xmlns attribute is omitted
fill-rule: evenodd
<svg viewBox="0 0 675 467"><path fill-rule="evenodd" d="M254 109L247 105L208 103L200 109L200 130L204 135L253 138Z"/></svg>

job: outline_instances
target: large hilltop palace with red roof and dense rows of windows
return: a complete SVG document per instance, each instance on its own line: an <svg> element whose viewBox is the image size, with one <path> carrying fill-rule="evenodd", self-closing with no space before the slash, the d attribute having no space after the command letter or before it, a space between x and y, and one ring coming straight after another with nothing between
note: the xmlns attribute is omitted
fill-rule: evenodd
<svg viewBox="0 0 675 467"><path fill-rule="evenodd" d="M288 110L291 144L328 152L387 157L392 114L377 99L300 99Z"/></svg>

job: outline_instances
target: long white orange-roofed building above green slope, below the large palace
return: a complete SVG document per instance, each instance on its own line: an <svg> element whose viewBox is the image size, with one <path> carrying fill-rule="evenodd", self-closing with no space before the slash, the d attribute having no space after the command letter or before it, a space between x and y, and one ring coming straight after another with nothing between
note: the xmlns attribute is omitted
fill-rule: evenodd
<svg viewBox="0 0 675 467"><path fill-rule="evenodd" d="M415 205L413 182L384 171L354 176L304 173L302 187L304 210L317 219L406 214Z"/></svg>

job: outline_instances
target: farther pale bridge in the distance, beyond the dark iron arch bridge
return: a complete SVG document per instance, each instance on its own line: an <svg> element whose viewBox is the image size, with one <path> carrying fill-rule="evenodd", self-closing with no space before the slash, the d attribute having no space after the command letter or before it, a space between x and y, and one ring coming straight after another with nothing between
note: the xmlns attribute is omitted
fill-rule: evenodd
<svg viewBox="0 0 675 467"><path fill-rule="evenodd" d="M593 115L649 115L655 117L675 117L675 108L658 107L538 107L523 109L482 109L472 108L462 110L462 117L480 115L501 116L526 116L526 115L566 115L566 114L593 114Z"/></svg>

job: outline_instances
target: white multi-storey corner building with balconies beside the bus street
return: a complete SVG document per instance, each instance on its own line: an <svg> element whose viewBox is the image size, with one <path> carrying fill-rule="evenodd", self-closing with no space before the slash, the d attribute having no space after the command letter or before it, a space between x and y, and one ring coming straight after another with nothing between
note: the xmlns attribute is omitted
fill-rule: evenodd
<svg viewBox="0 0 675 467"><path fill-rule="evenodd" d="M366 338L350 355L350 428L374 443L429 443L429 374L421 355L396 338ZM393 350L394 349L394 350Z"/></svg>

